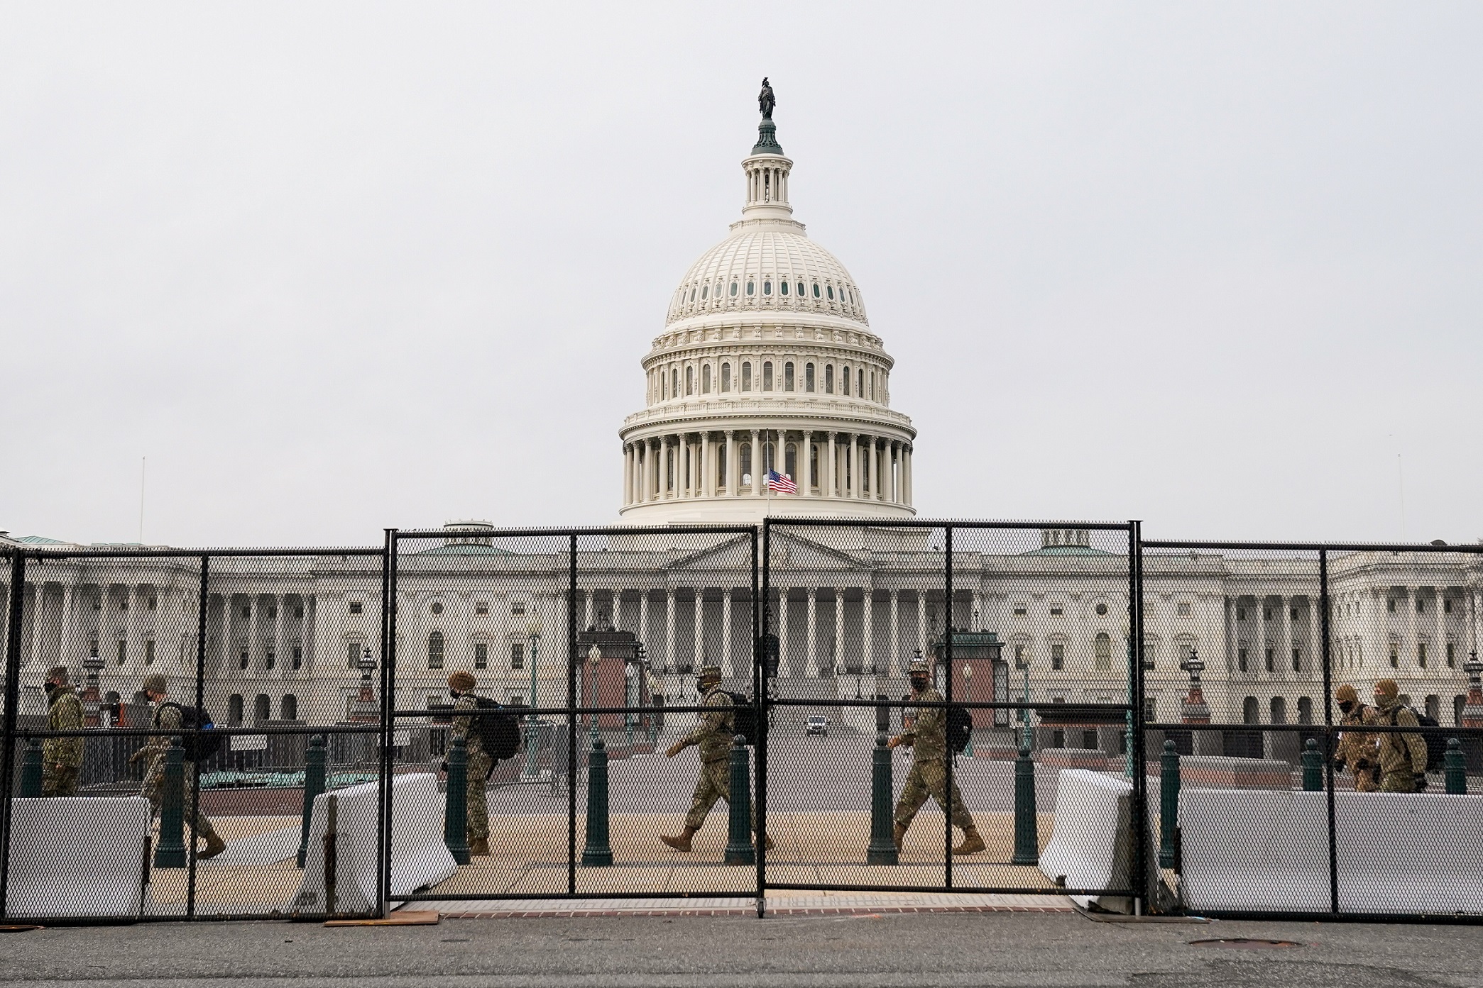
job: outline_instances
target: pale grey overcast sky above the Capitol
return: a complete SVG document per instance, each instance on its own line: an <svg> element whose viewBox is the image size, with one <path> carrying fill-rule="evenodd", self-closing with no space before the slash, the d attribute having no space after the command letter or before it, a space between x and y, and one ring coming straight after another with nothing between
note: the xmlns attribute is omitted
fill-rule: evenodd
<svg viewBox="0 0 1483 988"><path fill-rule="evenodd" d="M927 517L1483 536L1483 6L0 6L0 529L617 520L758 81Z"/></svg>

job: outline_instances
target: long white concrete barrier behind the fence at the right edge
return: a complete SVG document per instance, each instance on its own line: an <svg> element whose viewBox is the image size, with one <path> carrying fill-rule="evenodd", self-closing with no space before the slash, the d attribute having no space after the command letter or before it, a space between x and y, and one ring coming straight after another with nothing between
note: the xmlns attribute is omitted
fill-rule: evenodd
<svg viewBox="0 0 1483 988"><path fill-rule="evenodd" d="M1335 792L1344 912L1483 914L1483 795ZM1326 792L1180 790L1194 911L1329 912Z"/></svg>

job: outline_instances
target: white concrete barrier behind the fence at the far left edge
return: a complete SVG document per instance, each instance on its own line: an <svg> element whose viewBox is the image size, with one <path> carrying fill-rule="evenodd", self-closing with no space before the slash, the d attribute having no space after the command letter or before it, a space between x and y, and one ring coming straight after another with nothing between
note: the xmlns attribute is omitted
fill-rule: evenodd
<svg viewBox="0 0 1483 988"><path fill-rule="evenodd" d="M12 807L6 915L139 915L150 874L148 800L18 798Z"/></svg>

